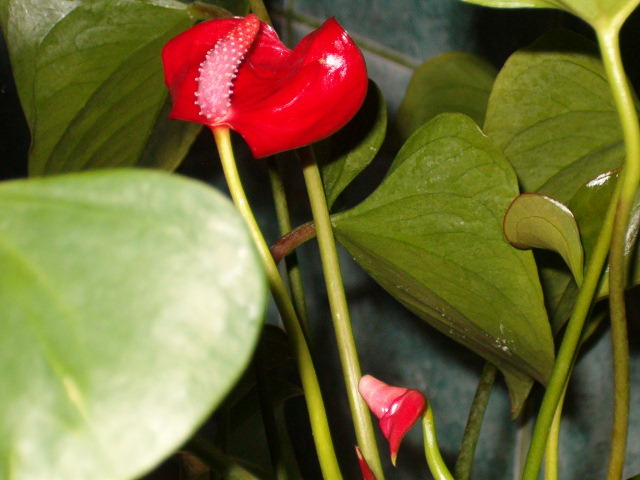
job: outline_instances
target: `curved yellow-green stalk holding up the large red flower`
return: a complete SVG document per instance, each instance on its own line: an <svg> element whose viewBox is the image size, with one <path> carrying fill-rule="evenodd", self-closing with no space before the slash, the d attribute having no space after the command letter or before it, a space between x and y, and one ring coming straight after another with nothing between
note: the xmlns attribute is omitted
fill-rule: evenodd
<svg viewBox="0 0 640 480"><path fill-rule="evenodd" d="M220 152L222 169L229 186L229 191L231 192L231 197L233 198L236 208L249 227L249 231L258 249L258 253L260 254L267 274L271 294L273 295L273 299L275 300L278 311L282 317L282 323L284 324L285 330L287 331L293 346L298 368L300 370L302 388L305 392L311 430L313 432L313 438L318 452L318 460L320 461L322 474L326 480L341 480L342 474L340 473L340 467L338 466L338 461L333 448L327 414L322 400L318 377L311 359L311 353L309 352L309 347L304 333L296 316L293 303L289 298L287 289L282 281L282 277L278 272L278 267L273 261L269 247L262 236L260 227L253 216L251 206L249 205L244 193L233 155L233 149L231 147L229 129L226 127L217 127L213 130L213 134L218 151Z"/></svg>

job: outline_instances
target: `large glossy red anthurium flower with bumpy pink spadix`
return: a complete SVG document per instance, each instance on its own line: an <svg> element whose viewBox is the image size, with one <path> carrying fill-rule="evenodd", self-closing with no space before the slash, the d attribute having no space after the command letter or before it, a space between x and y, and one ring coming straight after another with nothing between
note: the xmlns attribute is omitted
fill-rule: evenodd
<svg viewBox="0 0 640 480"><path fill-rule="evenodd" d="M367 92L362 53L333 18L294 50L253 14L209 20L171 39L162 60L170 118L230 127L257 158L328 137Z"/></svg>

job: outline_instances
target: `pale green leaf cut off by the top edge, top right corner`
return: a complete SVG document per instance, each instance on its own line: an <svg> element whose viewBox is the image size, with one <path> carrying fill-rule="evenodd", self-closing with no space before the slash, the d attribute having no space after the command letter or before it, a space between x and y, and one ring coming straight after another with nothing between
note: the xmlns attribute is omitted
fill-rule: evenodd
<svg viewBox="0 0 640 480"><path fill-rule="evenodd" d="M557 8L572 13L594 28L622 25L640 0L463 0L497 8Z"/></svg>

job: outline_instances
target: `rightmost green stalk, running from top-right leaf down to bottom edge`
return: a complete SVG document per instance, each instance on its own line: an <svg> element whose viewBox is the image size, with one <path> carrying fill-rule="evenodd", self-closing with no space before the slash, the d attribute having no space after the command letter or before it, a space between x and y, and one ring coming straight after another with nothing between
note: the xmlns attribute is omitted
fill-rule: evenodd
<svg viewBox="0 0 640 480"><path fill-rule="evenodd" d="M619 26L598 31L607 78L620 116L626 157L619 182L620 197L609 251L609 308L613 345L614 409L607 480L620 480L629 429L629 342L624 303L625 240L629 215L640 182L640 128L633 97L620 58Z"/></svg>

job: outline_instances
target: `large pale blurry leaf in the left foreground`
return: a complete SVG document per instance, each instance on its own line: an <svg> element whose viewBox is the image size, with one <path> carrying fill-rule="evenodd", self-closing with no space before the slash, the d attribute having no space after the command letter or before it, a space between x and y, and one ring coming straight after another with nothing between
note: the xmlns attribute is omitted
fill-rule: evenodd
<svg viewBox="0 0 640 480"><path fill-rule="evenodd" d="M244 370L265 282L217 192L112 171L0 186L0 478L128 479Z"/></svg>

